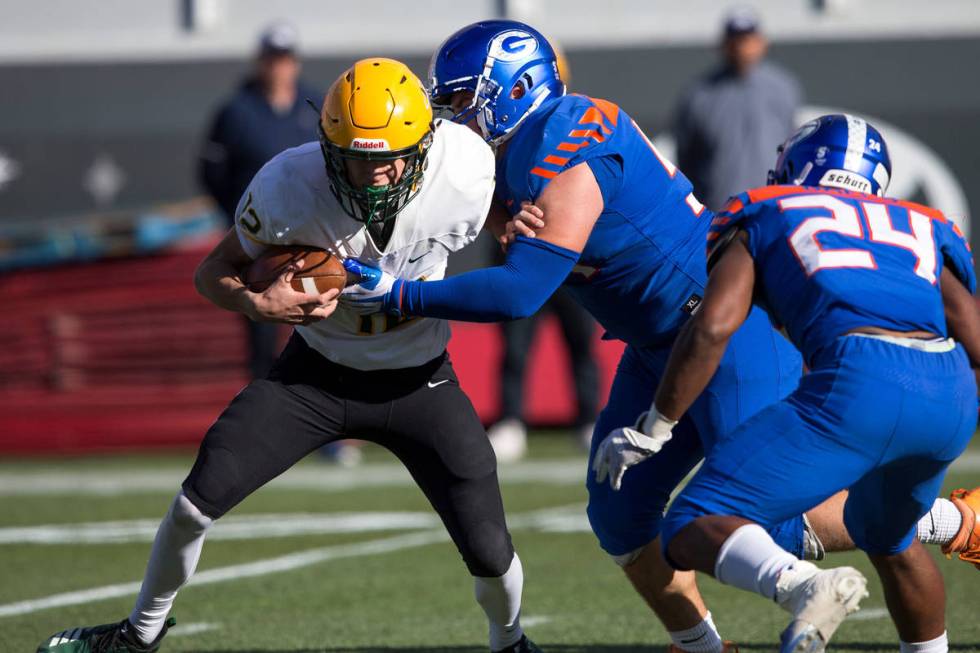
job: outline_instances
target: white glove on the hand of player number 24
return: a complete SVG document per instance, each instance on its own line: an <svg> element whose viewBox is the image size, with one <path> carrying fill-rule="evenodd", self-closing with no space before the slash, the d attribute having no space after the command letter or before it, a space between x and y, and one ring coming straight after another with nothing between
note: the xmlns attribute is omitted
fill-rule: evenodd
<svg viewBox="0 0 980 653"><path fill-rule="evenodd" d="M626 470L663 449L676 425L677 420L667 419L651 407L632 428L624 426L610 432L599 443L592 461L596 482L602 483L608 476L609 486L619 490Z"/></svg>

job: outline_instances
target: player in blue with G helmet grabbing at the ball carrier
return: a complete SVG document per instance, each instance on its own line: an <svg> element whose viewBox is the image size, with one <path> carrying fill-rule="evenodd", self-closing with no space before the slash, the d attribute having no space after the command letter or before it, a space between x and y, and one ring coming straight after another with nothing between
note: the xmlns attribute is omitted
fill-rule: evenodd
<svg viewBox="0 0 980 653"><path fill-rule="evenodd" d="M349 261L365 281L342 301L405 315L498 321L533 313L567 278L566 288L607 337L628 343L590 454L597 472L588 478L592 527L670 632L671 650L725 650L693 574L675 573L664 562L660 520L670 492L700 460L702 443L710 449L796 387L798 355L754 309L718 374L664 446L659 438L671 432L670 424L644 411L677 331L704 293L711 215L625 112L608 101L564 95L551 47L527 25L488 21L463 28L436 53L431 77L434 101L448 104L456 120L496 150L491 212L506 221L533 200L538 208L531 210L557 218L532 223L537 233L517 237L503 266L446 281L406 282ZM629 428L634 425L639 430ZM631 464L637 470L624 479ZM846 548L848 542L836 541L844 531L839 506L838 499L810 511L814 529L794 517L771 532L800 555L817 548L814 530L833 536L833 548ZM957 524L965 522L956 508L952 512Z"/></svg>

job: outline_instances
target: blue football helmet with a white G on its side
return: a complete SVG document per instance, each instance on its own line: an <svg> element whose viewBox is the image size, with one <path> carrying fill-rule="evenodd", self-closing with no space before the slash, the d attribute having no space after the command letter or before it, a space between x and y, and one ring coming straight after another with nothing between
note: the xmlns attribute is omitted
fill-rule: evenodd
<svg viewBox="0 0 980 653"><path fill-rule="evenodd" d="M473 101L453 121L476 118L483 138L496 145L547 98L564 95L565 85L540 32L516 20L487 20L459 30L432 56L432 104L445 108L460 91L471 91Z"/></svg>

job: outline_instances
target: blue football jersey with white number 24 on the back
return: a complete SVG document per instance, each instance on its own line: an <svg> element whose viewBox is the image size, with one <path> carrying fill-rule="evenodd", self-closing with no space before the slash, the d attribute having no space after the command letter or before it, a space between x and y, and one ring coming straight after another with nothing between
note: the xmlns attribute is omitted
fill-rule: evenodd
<svg viewBox="0 0 980 653"><path fill-rule="evenodd" d="M708 247L743 229L759 299L805 360L857 327L946 336L939 276L976 277L960 230L935 209L864 193L768 186L733 198Z"/></svg>

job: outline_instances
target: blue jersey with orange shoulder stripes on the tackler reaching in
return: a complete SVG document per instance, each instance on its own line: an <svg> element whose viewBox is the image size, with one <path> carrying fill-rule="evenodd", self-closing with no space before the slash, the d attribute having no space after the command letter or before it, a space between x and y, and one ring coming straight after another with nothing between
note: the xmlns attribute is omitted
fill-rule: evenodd
<svg viewBox="0 0 980 653"><path fill-rule="evenodd" d="M669 342L704 293L711 214L625 111L583 95L528 116L498 162L497 196L516 212L580 163L594 173L604 208L566 288L607 337Z"/></svg>

